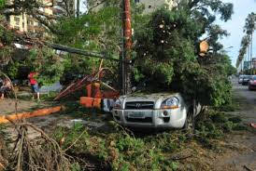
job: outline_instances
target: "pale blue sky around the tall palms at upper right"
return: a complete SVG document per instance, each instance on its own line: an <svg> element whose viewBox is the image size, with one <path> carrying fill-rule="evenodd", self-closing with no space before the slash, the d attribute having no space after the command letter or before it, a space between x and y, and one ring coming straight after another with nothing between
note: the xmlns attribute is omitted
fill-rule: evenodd
<svg viewBox="0 0 256 171"><path fill-rule="evenodd" d="M225 3L233 3L234 4L234 15L232 16L232 20L228 20L227 22L222 22L220 20L217 21L220 24L222 29L225 29L230 33L230 36L224 37L220 40L220 42L224 45L224 50L228 53L228 55L232 59L232 63L235 66L236 59L238 57L240 43L242 37L245 35L243 33L243 27L245 25L245 20L249 13L256 13L256 1L255 0L222 0ZM256 58L256 33L253 35L252 46L253 46L253 54L252 57ZM233 47L230 47L233 46Z"/></svg>

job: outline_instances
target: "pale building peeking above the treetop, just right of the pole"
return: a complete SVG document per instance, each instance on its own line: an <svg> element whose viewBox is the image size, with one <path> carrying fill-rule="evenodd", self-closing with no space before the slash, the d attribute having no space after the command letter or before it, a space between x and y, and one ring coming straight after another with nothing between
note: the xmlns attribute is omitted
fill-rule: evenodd
<svg viewBox="0 0 256 171"><path fill-rule="evenodd" d="M149 14L160 7L172 9L176 6L175 0L135 0L135 3L143 4L145 6L145 14Z"/></svg>

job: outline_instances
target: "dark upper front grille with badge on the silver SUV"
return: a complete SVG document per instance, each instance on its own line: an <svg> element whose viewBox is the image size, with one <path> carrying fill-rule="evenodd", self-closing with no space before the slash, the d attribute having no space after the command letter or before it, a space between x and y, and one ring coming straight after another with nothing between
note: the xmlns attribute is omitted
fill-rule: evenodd
<svg viewBox="0 0 256 171"><path fill-rule="evenodd" d="M154 109L153 101L133 101L125 103L125 110L152 110Z"/></svg>

